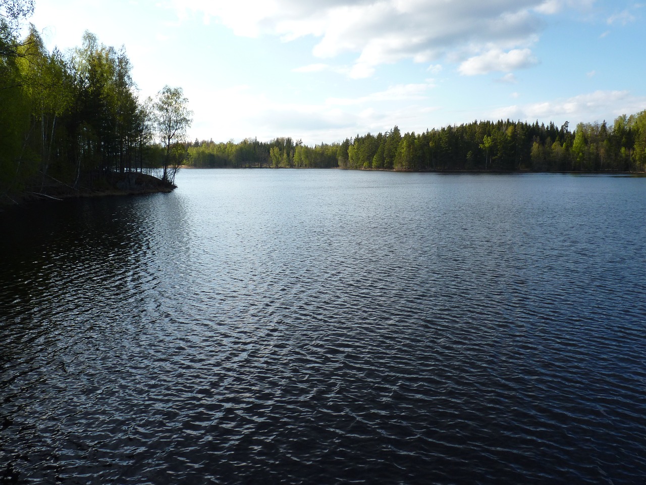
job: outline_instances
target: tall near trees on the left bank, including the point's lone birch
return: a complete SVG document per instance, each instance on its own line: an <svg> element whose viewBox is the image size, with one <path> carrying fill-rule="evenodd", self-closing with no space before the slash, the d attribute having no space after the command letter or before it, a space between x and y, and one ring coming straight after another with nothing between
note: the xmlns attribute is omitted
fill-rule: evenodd
<svg viewBox="0 0 646 485"><path fill-rule="evenodd" d="M0 196L148 167L172 184L191 122L182 89L140 101L125 48L90 32L65 53L48 52L34 25L19 38L33 11L32 0L0 0Z"/></svg>

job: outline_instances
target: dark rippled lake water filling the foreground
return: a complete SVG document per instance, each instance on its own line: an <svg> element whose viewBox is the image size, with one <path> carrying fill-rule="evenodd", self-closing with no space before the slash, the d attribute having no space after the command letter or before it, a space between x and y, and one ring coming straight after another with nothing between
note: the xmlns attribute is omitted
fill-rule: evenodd
<svg viewBox="0 0 646 485"><path fill-rule="evenodd" d="M0 215L0 482L646 483L646 178L178 184Z"/></svg>

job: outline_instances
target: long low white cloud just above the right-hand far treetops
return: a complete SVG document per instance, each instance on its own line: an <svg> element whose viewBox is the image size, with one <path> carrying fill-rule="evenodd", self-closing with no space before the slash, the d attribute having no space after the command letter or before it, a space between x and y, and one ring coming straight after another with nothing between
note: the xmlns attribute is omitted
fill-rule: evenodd
<svg viewBox="0 0 646 485"><path fill-rule="evenodd" d="M567 99L524 106L512 105L495 110L494 119L544 120L571 123L614 120L622 113L638 113L646 105L646 96L629 91L594 91Z"/></svg>

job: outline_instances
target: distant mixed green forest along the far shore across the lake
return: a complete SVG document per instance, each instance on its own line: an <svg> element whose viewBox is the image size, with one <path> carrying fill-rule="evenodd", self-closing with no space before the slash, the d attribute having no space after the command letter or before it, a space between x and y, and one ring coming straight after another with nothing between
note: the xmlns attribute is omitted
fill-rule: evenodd
<svg viewBox="0 0 646 485"><path fill-rule="evenodd" d="M644 171L646 111L607 122L557 127L528 122L474 121L424 133L399 127L343 142L304 146L275 138L240 143L195 140L194 167L340 167L408 171Z"/></svg>

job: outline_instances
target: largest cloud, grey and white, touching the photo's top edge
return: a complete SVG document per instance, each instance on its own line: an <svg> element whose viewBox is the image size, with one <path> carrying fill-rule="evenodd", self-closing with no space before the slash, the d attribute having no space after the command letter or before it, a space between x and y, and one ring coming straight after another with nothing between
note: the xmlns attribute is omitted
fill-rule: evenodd
<svg viewBox="0 0 646 485"><path fill-rule="evenodd" d="M529 67L536 59L526 48L543 30L544 16L593 0L172 1L181 12L201 12L240 36L311 36L318 58L357 54L348 73L365 78L382 64L431 64L452 55L464 61L464 74Z"/></svg>

